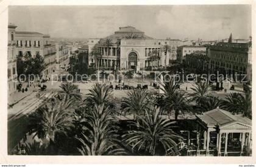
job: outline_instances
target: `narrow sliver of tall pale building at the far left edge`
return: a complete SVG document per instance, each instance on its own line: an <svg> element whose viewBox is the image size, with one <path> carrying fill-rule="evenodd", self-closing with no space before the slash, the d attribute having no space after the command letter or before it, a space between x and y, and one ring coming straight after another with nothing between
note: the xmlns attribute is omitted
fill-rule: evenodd
<svg viewBox="0 0 256 167"><path fill-rule="evenodd" d="M8 26L8 94L13 94L16 90L17 84L17 68L16 68L16 41L15 41L15 29L17 26Z"/></svg>

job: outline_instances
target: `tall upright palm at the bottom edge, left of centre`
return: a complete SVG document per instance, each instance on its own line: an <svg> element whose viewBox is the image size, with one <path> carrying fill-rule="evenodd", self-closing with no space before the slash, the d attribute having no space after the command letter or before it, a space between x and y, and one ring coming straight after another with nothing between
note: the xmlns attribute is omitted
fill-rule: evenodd
<svg viewBox="0 0 256 167"><path fill-rule="evenodd" d="M95 105L87 113L88 126L77 139L82 144L79 152L82 155L120 155L124 150L117 144L115 116L104 104Z"/></svg>

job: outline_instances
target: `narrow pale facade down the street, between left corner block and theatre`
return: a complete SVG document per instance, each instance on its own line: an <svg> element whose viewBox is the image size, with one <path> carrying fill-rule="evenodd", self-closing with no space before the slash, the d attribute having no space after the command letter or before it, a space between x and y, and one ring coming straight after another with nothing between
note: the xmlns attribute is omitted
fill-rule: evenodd
<svg viewBox="0 0 256 167"><path fill-rule="evenodd" d="M69 68L69 47L64 43L55 43L56 47L56 61L57 69L64 69L65 71Z"/></svg>

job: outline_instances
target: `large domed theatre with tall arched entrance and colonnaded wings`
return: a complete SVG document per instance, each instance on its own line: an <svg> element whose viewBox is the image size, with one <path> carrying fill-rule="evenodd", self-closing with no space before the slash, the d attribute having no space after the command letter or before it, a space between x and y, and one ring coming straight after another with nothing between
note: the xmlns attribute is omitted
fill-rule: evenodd
<svg viewBox="0 0 256 167"><path fill-rule="evenodd" d="M96 62L99 67L137 71L149 66L165 67L169 64L169 52L163 50L167 43L167 40L151 38L135 27L119 27L118 31L106 38L89 39L89 53L94 46L100 52L98 60L94 60L93 56L89 58L89 64Z"/></svg>

